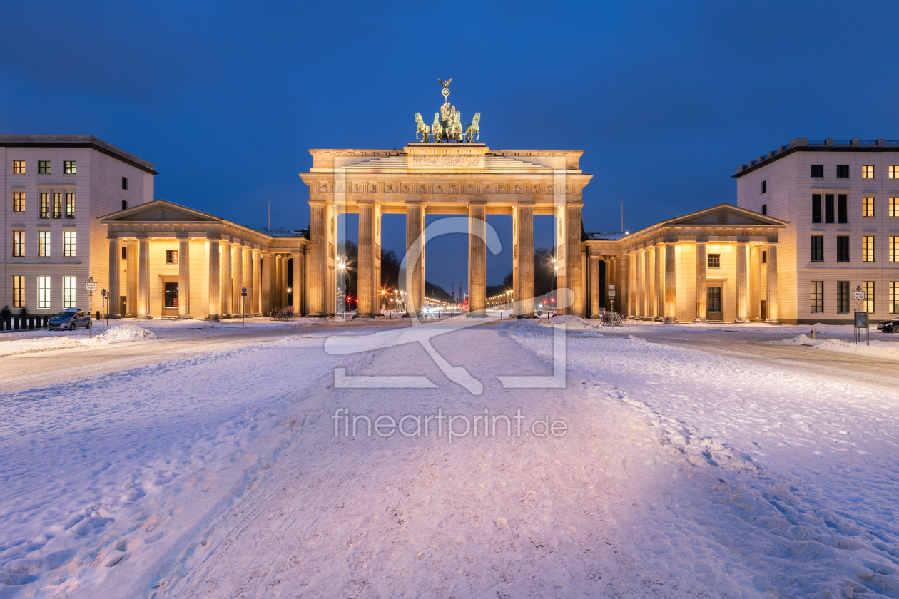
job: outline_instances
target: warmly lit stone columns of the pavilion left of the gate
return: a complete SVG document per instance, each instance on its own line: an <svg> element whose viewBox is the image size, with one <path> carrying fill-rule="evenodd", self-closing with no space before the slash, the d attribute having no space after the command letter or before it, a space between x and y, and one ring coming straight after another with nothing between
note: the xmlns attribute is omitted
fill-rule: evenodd
<svg viewBox="0 0 899 599"><path fill-rule="evenodd" d="M120 313L121 244L110 241L110 318L152 318L150 314L149 240L127 240L127 314ZM293 258L293 308L302 313L305 256L302 252L276 255L237 242L209 240L209 305L207 320L239 316L262 316L269 306L288 305L288 267ZM241 289L246 287L246 295ZM191 318L190 240L178 242L178 318Z"/></svg>

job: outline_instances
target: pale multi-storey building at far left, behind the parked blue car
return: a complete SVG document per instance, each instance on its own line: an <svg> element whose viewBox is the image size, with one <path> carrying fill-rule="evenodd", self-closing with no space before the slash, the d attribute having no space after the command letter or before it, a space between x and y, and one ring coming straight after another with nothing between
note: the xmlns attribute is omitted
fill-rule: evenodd
<svg viewBox="0 0 899 599"><path fill-rule="evenodd" d="M85 282L109 286L98 220L153 198L152 163L93 136L0 136L4 260L0 306L13 312L87 310ZM94 295L94 307L100 307Z"/></svg>

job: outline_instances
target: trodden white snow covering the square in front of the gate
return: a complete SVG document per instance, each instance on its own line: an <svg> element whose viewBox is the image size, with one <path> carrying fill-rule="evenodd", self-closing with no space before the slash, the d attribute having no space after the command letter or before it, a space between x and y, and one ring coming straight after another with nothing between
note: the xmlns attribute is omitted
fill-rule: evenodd
<svg viewBox="0 0 899 599"><path fill-rule="evenodd" d="M417 343L331 356L298 326L0 396L0 598L899 596L899 395L564 320L565 389L503 388L552 374L552 330L493 321L432 339L482 395ZM525 432L335 437L338 409Z"/></svg>

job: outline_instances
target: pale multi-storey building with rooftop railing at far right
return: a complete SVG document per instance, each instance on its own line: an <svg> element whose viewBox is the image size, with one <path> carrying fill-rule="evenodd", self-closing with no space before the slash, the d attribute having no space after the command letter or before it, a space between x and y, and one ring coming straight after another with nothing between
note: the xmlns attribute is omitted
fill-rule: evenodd
<svg viewBox="0 0 899 599"><path fill-rule="evenodd" d="M786 221L779 318L849 323L899 314L899 140L794 139L738 167L737 206Z"/></svg>

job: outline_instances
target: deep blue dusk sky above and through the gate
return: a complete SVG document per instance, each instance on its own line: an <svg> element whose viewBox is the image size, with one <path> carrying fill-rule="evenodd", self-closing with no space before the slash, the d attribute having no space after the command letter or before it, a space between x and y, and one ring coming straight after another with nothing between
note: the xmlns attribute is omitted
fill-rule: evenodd
<svg viewBox="0 0 899 599"><path fill-rule="evenodd" d="M90 134L156 165L156 198L305 228L308 148L400 148L451 77L491 148L581 149L587 230L735 203L796 137L899 138L895 2L21 3L0 132ZM430 119L425 119L430 122ZM432 217L435 218L436 216ZM548 216L535 244L551 243ZM510 216L492 216L512 269ZM348 232L355 237L355 216ZM405 216L384 222L402 254ZM426 277L467 277L466 239Z"/></svg>

